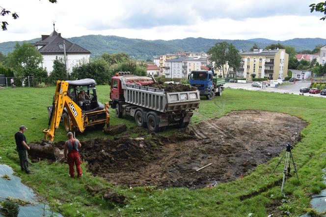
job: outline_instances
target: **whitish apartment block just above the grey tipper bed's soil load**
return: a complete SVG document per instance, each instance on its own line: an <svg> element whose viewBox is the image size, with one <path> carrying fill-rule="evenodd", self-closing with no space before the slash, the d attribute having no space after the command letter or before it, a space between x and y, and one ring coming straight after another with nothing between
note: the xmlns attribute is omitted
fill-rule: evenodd
<svg viewBox="0 0 326 217"><path fill-rule="evenodd" d="M168 59L164 61L165 78L184 78L182 73L183 60L186 57L179 56L177 58Z"/></svg>

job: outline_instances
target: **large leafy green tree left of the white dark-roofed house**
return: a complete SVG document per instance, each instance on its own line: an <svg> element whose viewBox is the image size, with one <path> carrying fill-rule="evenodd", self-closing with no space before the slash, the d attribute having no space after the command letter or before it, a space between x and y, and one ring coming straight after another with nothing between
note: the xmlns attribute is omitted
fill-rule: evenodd
<svg viewBox="0 0 326 217"><path fill-rule="evenodd" d="M15 76L34 76L38 81L45 82L48 73L40 67L42 60L42 54L33 45L16 43L15 50L7 56L6 66L14 70Z"/></svg>

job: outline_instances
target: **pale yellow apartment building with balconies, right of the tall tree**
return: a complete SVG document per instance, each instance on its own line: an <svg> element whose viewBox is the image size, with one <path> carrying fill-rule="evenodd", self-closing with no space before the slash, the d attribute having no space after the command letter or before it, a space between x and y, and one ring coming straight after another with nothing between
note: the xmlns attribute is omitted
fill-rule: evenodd
<svg viewBox="0 0 326 217"><path fill-rule="evenodd" d="M285 49L255 49L239 54L242 56L242 61L240 68L237 69L237 77L251 81L253 77L276 80L287 76L289 54L285 53Z"/></svg>

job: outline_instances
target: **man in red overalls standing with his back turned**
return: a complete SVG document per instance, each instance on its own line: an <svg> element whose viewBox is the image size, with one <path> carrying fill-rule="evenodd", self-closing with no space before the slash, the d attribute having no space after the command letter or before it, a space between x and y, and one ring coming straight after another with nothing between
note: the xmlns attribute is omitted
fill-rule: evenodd
<svg viewBox="0 0 326 217"><path fill-rule="evenodd" d="M70 177L73 178L75 175L74 164L76 164L77 177L81 177L81 157L78 151L78 149L81 147L81 143L78 139L74 138L73 133L69 132L67 136L69 140L64 144L64 157L65 159L68 158Z"/></svg>

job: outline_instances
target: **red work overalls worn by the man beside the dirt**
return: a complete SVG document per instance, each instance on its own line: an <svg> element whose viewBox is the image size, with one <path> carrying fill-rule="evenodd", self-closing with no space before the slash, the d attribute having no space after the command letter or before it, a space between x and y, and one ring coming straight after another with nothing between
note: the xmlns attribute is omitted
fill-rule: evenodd
<svg viewBox="0 0 326 217"><path fill-rule="evenodd" d="M70 139L68 140L70 141L70 144L72 146L72 148L70 149L69 147L69 142L68 142L68 164L69 164L69 174L70 177L74 177L75 175L75 169L74 169L74 164L76 164L76 170L77 170L77 176L81 177L82 173L81 173L81 157L79 155L78 150L76 150L76 145L78 147L78 143L76 143L76 139L74 139L74 141L71 141Z"/></svg>

